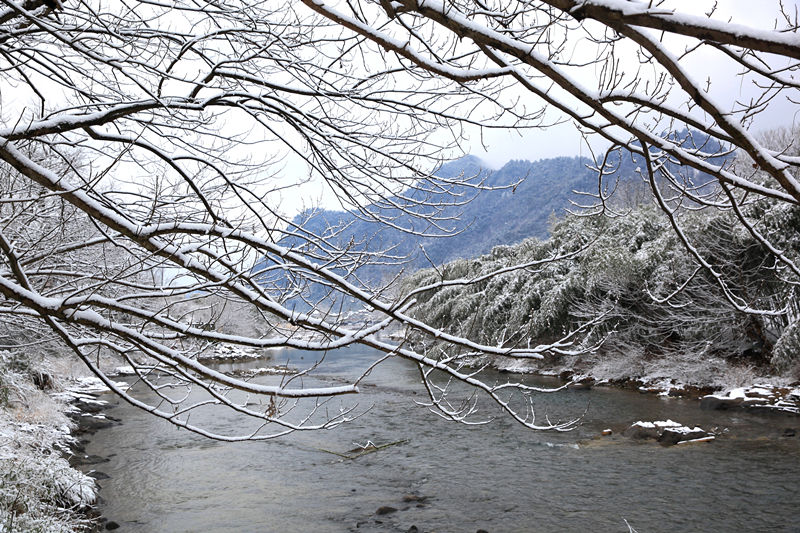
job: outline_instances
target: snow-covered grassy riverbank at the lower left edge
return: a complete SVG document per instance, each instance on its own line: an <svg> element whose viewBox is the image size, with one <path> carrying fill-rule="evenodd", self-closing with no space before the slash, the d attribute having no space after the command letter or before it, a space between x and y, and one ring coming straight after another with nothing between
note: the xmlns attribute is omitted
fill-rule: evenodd
<svg viewBox="0 0 800 533"><path fill-rule="evenodd" d="M85 532L97 521L95 480L72 458L89 383L0 367L0 529Z"/></svg>

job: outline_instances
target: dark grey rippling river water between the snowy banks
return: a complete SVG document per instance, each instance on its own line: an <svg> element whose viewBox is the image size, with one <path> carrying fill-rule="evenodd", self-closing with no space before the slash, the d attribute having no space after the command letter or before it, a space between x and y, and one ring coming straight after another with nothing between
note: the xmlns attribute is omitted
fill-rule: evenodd
<svg viewBox="0 0 800 533"><path fill-rule="evenodd" d="M280 352L307 362L310 354ZM326 361L346 374L370 359L351 350ZM238 366L263 366L263 362ZM503 379L502 375L498 375ZM225 444L180 431L127 405L123 424L92 437L102 512L119 531L620 531L800 532L800 419L705 412L697 402L615 389L563 391L537 412L568 418L570 433L532 432L498 418L467 427L415 398L415 368L387 361L359 396L370 412L332 431ZM485 405L486 412L492 409ZM725 430L709 444L671 448L618 434L637 420L671 418ZM199 422L199 420L195 420ZM224 429L231 420L209 423ZM227 426L226 426L227 425ZM604 428L612 437L595 438ZM798 431L800 433L800 431ZM407 440L355 460L354 443ZM404 495L427 498L404 502ZM377 515L381 506L397 512Z"/></svg>

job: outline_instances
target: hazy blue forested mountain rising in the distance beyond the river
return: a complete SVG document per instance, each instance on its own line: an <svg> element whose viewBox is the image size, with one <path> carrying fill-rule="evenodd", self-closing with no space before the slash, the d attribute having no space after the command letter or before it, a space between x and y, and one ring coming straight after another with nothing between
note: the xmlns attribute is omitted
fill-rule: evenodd
<svg viewBox="0 0 800 533"><path fill-rule="evenodd" d="M499 244L545 238L552 217L563 217L566 209L586 203L581 192L597 191L597 173L589 164L585 158L558 157L511 161L492 171L477 157L465 156L442 165L436 175L445 180L472 176L475 187L427 192L424 198L420 191L406 191L388 206L368 205L364 212L308 210L295 217L287 230L295 228L296 235L283 238L280 244L320 257L342 250L361 252L361 262L339 269L340 274L355 276L366 287L384 286L420 268L475 257ZM628 156L604 181L611 188L618 180L640 183L635 167L635 160ZM431 216L405 213L402 204L408 197L429 205ZM264 264L256 265L255 270L259 269ZM328 298L323 287L295 286L291 279L282 280L280 272L264 271L261 276L286 285L285 293L294 295L291 301L298 309L323 300L328 302L322 304L325 309L348 305Z"/></svg>

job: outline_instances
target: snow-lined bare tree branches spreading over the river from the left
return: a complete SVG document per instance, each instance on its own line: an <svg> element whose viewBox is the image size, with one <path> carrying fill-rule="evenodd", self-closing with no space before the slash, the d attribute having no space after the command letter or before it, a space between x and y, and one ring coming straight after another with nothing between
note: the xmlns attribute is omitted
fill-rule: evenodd
<svg viewBox="0 0 800 533"><path fill-rule="evenodd" d="M417 233L443 233L443 204L464 201L446 193L470 177L427 174L458 136L453 103L438 98L450 89L374 72L365 61L377 51L343 32L299 5L3 2L0 160L13 186L2 199L2 316L38 327L20 344L39 342L46 327L128 401L225 439L332 427L351 414L329 400L357 393L358 382L225 375L197 359L220 343L320 354L361 344L500 399L509 387L377 336L408 322L410 303L354 271L391 257L337 247L283 218L290 187L308 177L344 205L368 206L362 216L398 225L381 209L402 212L403 229ZM281 165L283 177L273 175ZM284 237L313 246L276 244ZM313 301L311 311L296 304L320 294L377 319L346 325ZM209 300L211 314L186 309ZM260 330L217 328L218 302L247 304ZM452 340L468 352L507 351ZM132 366L155 400L108 379L108 358ZM253 424L234 435L192 424L196 410L218 408ZM524 407L513 415L550 427Z"/></svg>

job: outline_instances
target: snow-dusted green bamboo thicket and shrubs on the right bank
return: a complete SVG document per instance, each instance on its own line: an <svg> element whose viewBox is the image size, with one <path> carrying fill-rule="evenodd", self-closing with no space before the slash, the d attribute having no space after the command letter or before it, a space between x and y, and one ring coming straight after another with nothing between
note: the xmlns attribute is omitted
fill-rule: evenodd
<svg viewBox="0 0 800 533"><path fill-rule="evenodd" d="M759 202L747 214L789 259L798 257L800 210ZM797 287L784 281L775 250L730 212L680 215L697 251L729 280L724 287L698 268L666 216L642 204L624 217L567 216L547 240L498 246L488 255L420 271L407 278L405 291L585 247L572 259L536 269L423 291L415 295L415 316L489 345L551 343L574 332L573 344L560 354L549 351L546 364L583 366L607 379L713 381L731 365L797 373ZM737 309L743 305L747 309Z"/></svg>

